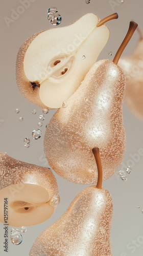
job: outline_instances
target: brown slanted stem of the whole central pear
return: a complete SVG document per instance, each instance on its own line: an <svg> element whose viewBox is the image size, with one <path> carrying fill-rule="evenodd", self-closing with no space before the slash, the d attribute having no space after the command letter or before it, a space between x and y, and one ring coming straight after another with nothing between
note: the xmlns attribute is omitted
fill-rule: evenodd
<svg viewBox="0 0 143 256"><path fill-rule="evenodd" d="M137 28L137 24L135 22L130 22L130 26L129 26L129 30L128 30L128 33L127 35L125 36L123 42L122 42L122 45L120 46L120 48L118 49L114 59L113 59L113 62L117 65L118 63L118 60L120 59L125 47L128 45L128 42L130 41L133 33L135 32L136 28Z"/></svg>

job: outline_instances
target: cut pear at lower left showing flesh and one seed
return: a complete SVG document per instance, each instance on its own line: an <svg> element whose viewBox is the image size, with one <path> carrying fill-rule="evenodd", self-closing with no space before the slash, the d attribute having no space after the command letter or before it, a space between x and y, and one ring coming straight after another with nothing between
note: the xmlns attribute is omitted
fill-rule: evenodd
<svg viewBox="0 0 143 256"><path fill-rule="evenodd" d="M0 187L0 221L6 223L4 199L7 199L10 226L44 222L53 215L59 203L58 185L50 169L15 160L2 152Z"/></svg>

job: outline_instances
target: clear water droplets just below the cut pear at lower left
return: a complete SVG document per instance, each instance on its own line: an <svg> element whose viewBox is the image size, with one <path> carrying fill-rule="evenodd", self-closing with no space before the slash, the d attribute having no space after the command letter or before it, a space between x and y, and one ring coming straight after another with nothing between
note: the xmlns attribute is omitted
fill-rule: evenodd
<svg viewBox="0 0 143 256"><path fill-rule="evenodd" d="M22 226L21 232L25 233L27 231L27 227ZM14 245L19 245L22 243L22 234L17 228L12 228L10 232L10 240Z"/></svg>

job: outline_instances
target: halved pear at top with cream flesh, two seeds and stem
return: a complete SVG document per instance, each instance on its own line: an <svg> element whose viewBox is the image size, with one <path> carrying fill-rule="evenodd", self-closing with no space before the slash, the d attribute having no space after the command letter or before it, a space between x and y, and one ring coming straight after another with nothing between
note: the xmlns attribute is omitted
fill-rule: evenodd
<svg viewBox="0 0 143 256"><path fill-rule="evenodd" d="M63 28L41 31L20 47L16 80L20 92L42 108L61 108L77 90L109 39L104 22L88 13Z"/></svg>

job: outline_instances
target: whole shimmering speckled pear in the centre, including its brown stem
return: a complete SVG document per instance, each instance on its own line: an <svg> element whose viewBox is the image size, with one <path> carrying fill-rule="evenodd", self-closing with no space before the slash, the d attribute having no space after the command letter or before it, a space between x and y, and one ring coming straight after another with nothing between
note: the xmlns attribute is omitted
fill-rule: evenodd
<svg viewBox="0 0 143 256"><path fill-rule="evenodd" d="M53 116L44 135L44 153L53 170L68 181L94 184L93 147L100 147L103 180L121 165L126 150L123 97L126 87L123 70L117 66L137 24L129 31L112 61L93 65L65 107ZM66 167L65 167L66 166Z"/></svg>

